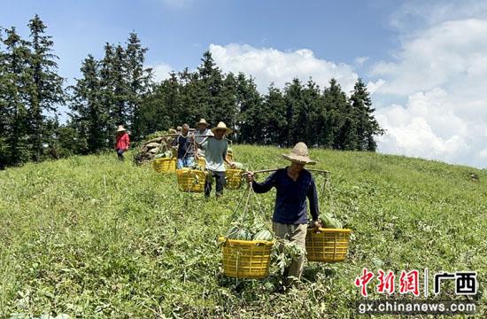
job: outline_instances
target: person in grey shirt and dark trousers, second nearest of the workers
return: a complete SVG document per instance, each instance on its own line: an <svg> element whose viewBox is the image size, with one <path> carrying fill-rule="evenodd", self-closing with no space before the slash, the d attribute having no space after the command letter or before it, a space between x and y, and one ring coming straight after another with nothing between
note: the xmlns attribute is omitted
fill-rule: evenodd
<svg viewBox="0 0 487 319"><path fill-rule="evenodd" d="M213 178L216 180L216 197L218 198L223 194L223 187L225 186L224 163L226 162L230 167L235 167L235 164L227 158L228 142L223 138L232 132L225 123L220 121L216 127L212 128L214 136L209 136L205 142L199 144L205 151L206 170L209 173L205 182L205 198L210 197Z"/></svg>

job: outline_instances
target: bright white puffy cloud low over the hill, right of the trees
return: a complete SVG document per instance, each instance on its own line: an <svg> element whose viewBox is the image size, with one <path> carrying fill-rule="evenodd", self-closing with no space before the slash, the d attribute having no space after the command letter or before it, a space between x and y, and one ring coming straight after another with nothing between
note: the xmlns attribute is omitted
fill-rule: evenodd
<svg viewBox="0 0 487 319"><path fill-rule="evenodd" d="M379 151L480 165L478 127L454 113L449 99L443 89L433 89L409 97L406 107L378 110L377 120L387 131L378 137Z"/></svg>

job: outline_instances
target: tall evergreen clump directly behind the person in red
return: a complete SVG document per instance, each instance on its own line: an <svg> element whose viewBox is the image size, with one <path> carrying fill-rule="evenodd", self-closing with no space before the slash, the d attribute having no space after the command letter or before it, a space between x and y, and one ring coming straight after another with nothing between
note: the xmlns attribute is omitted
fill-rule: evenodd
<svg viewBox="0 0 487 319"><path fill-rule="evenodd" d="M74 153L88 154L113 148L113 132L125 124L141 137L141 105L151 91L151 68L144 68L146 48L135 33L125 46L106 43L104 58L92 55L81 63L81 78L68 88L67 122L62 140L76 141ZM63 145L67 147L67 145Z"/></svg>

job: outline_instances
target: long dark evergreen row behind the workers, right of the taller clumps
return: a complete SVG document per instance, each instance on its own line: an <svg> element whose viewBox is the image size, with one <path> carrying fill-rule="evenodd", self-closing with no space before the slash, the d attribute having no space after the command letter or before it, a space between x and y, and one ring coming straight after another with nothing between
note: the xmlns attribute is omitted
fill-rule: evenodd
<svg viewBox="0 0 487 319"><path fill-rule="evenodd" d="M321 89L312 79L293 79L284 89L271 83L261 95L251 77L223 74L210 52L195 72L188 69L152 86L143 98L141 136L154 130L197 122L224 121L236 128L236 141L292 146L299 141L337 150L375 151L374 136L383 130L364 82L359 79L347 97L332 79Z"/></svg>

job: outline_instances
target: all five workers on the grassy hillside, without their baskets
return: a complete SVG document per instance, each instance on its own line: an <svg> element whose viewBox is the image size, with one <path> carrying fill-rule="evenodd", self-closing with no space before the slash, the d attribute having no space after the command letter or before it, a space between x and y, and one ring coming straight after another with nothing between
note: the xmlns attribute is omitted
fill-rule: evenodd
<svg viewBox="0 0 487 319"><path fill-rule="evenodd" d="M201 119L197 122L195 134L189 135L189 125L184 124L181 135L178 135L171 144L178 146L178 168L190 167L195 159L200 156L205 157L205 168L208 171L205 182L206 198L210 197L213 178L216 181L216 196L222 195L225 186L225 163L235 167L235 164L228 159L228 142L224 138L233 132L232 129L227 128L221 121L214 128L208 127L209 124L205 119ZM119 127L118 132L116 151L119 158L123 159L123 152L128 149L129 139L127 130L123 127ZM314 228L321 227L316 184L313 175L305 169L305 165L316 162L309 158L308 148L302 142L296 144L290 153L282 154L282 157L290 160L290 166L276 170L263 183L255 181L254 173L251 171L246 172L246 179L256 193L265 193L273 187L276 189L272 218L274 234L276 237L294 242L305 251L308 224ZM312 222L308 222L306 198L309 201ZM304 262L303 254L285 269L284 279L288 286L299 284Z"/></svg>

